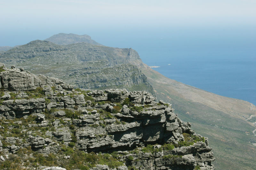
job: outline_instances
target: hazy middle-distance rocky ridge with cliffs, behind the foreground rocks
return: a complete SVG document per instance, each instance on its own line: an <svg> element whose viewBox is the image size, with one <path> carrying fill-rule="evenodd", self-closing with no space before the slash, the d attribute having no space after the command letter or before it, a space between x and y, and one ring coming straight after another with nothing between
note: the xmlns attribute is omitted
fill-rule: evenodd
<svg viewBox="0 0 256 170"><path fill-rule="evenodd" d="M128 64L127 58L134 62L140 60L131 48L87 43L59 46L41 40L13 48L0 56L8 67L16 65L35 74L59 77L79 88L125 88L145 90L154 95L147 77L136 66Z"/></svg>

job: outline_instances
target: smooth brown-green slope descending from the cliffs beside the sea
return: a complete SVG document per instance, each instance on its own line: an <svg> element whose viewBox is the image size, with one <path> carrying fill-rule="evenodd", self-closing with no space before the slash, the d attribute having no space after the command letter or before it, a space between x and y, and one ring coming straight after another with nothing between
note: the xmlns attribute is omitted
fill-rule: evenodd
<svg viewBox="0 0 256 170"><path fill-rule="evenodd" d="M140 69L158 100L172 103L181 120L191 122L196 133L209 138L216 169L256 168L256 147L250 143L256 139L255 127L244 120L256 114L254 105L168 79L145 64Z"/></svg>

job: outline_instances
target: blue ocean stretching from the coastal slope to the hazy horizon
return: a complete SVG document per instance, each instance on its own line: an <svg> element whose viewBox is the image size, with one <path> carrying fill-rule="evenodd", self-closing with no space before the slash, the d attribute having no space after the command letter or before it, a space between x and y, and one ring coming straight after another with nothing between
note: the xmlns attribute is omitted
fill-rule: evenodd
<svg viewBox="0 0 256 170"><path fill-rule="evenodd" d="M256 105L254 27L123 30L92 39L132 47L144 63L159 66L153 69L170 79Z"/></svg>

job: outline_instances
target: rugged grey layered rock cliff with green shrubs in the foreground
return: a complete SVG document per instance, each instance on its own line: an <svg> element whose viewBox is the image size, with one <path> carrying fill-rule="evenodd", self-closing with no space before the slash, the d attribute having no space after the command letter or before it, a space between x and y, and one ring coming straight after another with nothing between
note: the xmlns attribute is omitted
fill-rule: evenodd
<svg viewBox="0 0 256 170"><path fill-rule="evenodd" d="M208 139L148 92L83 91L6 67L0 78L2 169L214 169Z"/></svg>

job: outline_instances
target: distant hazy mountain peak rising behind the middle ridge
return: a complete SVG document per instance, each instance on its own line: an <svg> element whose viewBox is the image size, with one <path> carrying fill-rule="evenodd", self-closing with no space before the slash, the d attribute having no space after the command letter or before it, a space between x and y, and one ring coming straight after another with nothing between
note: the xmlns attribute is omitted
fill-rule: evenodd
<svg viewBox="0 0 256 170"><path fill-rule="evenodd" d="M68 44L75 44L80 42L90 43L97 46L102 46L101 44L97 43L96 41L92 40L89 35L77 35L77 34L65 34L59 33L55 34L52 37L45 39L45 41L51 41L58 45L68 45Z"/></svg>

